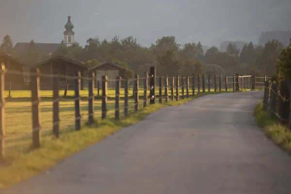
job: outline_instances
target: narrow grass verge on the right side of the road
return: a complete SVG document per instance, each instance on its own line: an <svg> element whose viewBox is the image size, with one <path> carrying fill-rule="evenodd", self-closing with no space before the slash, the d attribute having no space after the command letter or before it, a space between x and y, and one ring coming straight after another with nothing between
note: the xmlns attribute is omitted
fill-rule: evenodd
<svg viewBox="0 0 291 194"><path fill-rule="evenodd" d="M254 116L257 125L262 128L267 137L291 154L291 130L279 124L276 119L272 119L263 110L262 101L255 107Z"/></svg>

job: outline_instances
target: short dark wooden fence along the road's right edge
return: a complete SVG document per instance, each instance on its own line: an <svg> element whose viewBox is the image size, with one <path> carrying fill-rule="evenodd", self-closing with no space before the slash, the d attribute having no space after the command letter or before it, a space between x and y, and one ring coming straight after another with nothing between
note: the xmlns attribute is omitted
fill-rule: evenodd
<svg viewBox="0 0 291 194"><path fill-rule="evenodd" d="M281 81L280 87L275 82L265 81L264 111L267 111L271 118L277 119L279 123L289 127L289 129L291 129L290 93L291 80Z"/></svg>

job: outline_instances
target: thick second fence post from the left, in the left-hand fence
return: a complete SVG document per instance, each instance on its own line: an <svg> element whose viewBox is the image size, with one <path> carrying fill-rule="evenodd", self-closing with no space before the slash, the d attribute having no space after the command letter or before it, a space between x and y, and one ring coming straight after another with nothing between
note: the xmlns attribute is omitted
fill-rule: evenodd
<svg viewBox="0 0 291 194"><path fill-rule="evenodd" d="M31 91L32 91L32 147L39 148L40 147L40 125L39 125L39 69L32 68L31 69Z"/></svg>

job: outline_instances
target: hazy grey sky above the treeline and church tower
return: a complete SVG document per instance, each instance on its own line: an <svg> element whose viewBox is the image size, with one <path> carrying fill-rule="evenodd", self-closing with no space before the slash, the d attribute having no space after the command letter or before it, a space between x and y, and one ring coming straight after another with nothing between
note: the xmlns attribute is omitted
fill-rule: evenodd
<svg viewBox="0 0 291 194"><path fill-rule="evenodd" d="M100 39L133 35L144 46L165 35L175 35L182 44L257 43L262 31L291 30L290 1L0 0L0 37L8 33L14 44L31 39L59 43L70 12L75 41L81 45L96 35Z"/></svg>

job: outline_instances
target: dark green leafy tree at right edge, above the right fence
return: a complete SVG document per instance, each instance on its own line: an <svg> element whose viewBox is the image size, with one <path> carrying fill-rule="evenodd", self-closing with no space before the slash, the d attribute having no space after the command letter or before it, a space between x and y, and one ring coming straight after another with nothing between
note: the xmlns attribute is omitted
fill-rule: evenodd
<svg viewBox="0 0 291 194"><path fill-rule="evenodd" d="M276 74L280 80L291 79L291 39L290 46L282 49L277 63L275 64Z"/></svg>

